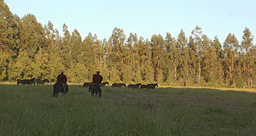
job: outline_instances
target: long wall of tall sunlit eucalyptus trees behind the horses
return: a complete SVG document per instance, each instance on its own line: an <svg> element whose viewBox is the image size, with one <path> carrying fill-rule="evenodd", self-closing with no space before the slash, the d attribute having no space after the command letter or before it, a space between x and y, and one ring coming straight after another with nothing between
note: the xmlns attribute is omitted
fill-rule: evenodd
<svg viewBox="0 0 256 136"><path fill-rule="evenodd" d="M0 0L0 81L49 79L64 70L69 83L91 82L101 71L109 83L158 83L171 86L254 87L256 46L245 27L242 41L229 33L223 43L196 26L187 38L153 34L151 39L114 28L109 38L84 39L78 30L63 36L53 24L42 26L33 14L19 18Z"/></svg>

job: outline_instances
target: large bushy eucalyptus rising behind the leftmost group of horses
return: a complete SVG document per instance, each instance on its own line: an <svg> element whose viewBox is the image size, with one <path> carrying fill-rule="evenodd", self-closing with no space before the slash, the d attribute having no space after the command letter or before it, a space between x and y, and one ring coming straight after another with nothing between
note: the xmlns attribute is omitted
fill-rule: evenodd
<svg viewBox="0 0 256 136"><path fill-rule="evenodd" d="M20 67L22 73L19 74L22 78L31 78L34 77L34 69L36 69L35 55L39 48L44 47L46 43L45 31L33 14L23 16L21 22L20 48L17 59L22 62Z"/></svg>

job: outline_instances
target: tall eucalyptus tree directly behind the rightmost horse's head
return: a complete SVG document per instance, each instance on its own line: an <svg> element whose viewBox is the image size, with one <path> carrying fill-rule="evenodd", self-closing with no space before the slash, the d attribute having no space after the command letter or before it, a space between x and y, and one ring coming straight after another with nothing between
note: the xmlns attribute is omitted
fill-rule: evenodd
<svg viewBox="0 0 256 136"><path fill-rule="evenodd" d="M152 62L154 65L154 79L160 85L163 82L163 69L166 58L165 40L159 35L151 37Z"/></svg>

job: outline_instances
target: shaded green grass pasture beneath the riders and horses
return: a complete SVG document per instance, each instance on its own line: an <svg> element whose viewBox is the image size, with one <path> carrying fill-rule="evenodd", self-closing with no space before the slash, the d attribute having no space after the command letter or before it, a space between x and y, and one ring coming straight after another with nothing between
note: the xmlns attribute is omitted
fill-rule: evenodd
<svg viewBox="0 0 256 136"><path fill-rule="evenodd" d="M83 84L68 85L54 98L52 83L1 83L0 135L256 135L255 89L106 85L91 98Z"/></svg>

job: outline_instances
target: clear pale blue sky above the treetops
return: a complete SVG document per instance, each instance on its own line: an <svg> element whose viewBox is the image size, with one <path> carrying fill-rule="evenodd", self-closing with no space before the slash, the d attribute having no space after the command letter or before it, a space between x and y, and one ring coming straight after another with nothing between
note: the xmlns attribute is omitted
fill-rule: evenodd
<svg viewBox="0 0 256 136"><path fill-rule="evenodd" d="M256 36L256 0L4 0L20 18L32 13L42 26L51 21L63 35L78 30L82 40L91 32L98 39L109 38L115 27L126 37L163 38L169 32L177 39L180 30L189 38L196 26L223 44L229 33L242 40L245 27ZM253 40L253 43L256 39Z"/></svg>

